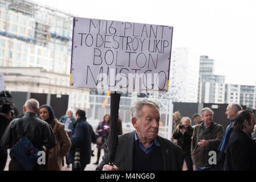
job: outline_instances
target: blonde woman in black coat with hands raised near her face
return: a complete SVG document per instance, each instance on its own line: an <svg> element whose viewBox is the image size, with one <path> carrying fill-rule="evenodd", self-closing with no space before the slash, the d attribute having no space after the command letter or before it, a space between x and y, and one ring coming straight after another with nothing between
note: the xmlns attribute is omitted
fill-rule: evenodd
<svg viewBox="0 0 256 182"><path fill-rule="evenodd" d="M182 148L182 164L184 159L188 171L193 171L193 163L191 158L190 146L193 135L193 127L191 126L191 120L189 117L183 117L181 119L182 125L177 125L176 130L173 133L173 138L177 139L177 144Z"/></svg>

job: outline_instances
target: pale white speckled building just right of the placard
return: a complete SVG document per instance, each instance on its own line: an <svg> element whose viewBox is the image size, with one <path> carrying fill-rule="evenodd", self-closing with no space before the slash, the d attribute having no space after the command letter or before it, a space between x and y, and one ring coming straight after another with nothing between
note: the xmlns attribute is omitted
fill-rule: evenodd
<svg viewBox="0 0 256 182"><path fill-rule="evenodd" d="M197 102L198 56L189 48L172 48L168 94L173 102Z"/></svg>

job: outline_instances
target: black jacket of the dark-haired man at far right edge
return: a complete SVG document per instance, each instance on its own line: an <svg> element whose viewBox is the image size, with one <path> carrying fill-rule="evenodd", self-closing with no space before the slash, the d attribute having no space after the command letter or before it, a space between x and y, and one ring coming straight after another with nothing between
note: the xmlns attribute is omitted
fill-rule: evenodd
<svg viewBox="0 0 256 182"><path fill-rule="evenodd" d="M256 144L245 132L234 129L227 143L228 171L256 170Z"/></svg>

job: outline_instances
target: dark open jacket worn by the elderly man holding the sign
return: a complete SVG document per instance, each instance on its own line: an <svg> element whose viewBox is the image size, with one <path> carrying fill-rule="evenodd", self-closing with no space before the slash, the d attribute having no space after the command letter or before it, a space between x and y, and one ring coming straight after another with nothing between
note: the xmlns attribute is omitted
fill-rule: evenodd
<svg viewBox="0 0 256 182"><path fill-rule="evenodd" d="M133 147L135 141L135 131L118 136L118 146L114 164L119 167L119 171L133 170ZM162 159L164 160L165 171L181 171L182 170L182 150L172 141L157 136L160 143ZM97 171L102 170L105 164L109 162L108 149L102 158L102 162L96 168Z"/></svg>

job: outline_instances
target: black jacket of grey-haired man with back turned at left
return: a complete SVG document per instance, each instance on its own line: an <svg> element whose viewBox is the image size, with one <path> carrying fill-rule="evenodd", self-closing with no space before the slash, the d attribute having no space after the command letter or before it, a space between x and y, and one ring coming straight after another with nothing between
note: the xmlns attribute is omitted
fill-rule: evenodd
<svg viewBox="0 0 256 182"><path fill-rule="evenodd" d="M0 142L3 148L13 147L22 138L19 134L18 120L14 119L7 126ZM35 113L26 113L23 116L23 135L27 136L39 150L43 150L43 146L49 149L53 148L56 144L51 126L47 122L39 119Z"/></svg>

